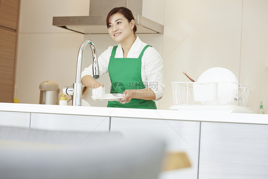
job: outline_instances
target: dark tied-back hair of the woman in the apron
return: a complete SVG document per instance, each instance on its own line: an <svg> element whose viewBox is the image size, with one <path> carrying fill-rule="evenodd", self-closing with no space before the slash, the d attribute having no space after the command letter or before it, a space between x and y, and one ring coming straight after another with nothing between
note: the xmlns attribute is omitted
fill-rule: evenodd
<svg viewBox="0 0 268 179"><path fill-rule="evenodd" d="M116 13L122 14L128 20L128 22L130 22L132 19L134 20L134 16L133 16L131 10L129 10L126 7L115 7L107 15L107 18L106 18L107 28L109 26L109 19L110 19L110 17L113 14L116 14ZM133 27L134 34L135 34L136 30L137 30L137 26L136 26L136 24L134 24L134 27Z"/></svg>

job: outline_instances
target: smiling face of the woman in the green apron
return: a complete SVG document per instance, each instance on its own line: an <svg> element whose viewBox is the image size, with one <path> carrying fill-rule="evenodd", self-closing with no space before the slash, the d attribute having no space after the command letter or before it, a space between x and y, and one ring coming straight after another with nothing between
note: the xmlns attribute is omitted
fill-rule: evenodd
<svg viewBox="0 0 268 179"><path fill-rule="evenodd" d="M113 14L109 19L108 32L116 42L127 40L134 35L134 20L128 22L127 18L120 13Z"/></svg>

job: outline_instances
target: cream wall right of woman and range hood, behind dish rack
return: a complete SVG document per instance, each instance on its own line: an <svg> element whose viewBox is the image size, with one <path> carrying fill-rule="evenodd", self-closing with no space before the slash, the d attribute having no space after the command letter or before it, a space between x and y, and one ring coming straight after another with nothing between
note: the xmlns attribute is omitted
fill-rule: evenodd
<svg viewBox="0 0 268 179"><path fill-rule="evenodd" d="M268 1L165 0L163 35L166 92L160 109L173 100L171 82L195 80L211 67L231 70L251 87L248 107L268 112Z"/></svg>

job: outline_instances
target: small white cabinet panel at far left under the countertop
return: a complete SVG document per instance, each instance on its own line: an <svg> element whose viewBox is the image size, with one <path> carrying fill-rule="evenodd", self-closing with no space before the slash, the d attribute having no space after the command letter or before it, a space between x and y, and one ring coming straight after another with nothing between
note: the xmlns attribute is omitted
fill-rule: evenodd
<svg viewBox="0 0 268 179"><path fill-rule="evenodd" d="M30 112L0 111L0 125L30 128Z"/></svg>

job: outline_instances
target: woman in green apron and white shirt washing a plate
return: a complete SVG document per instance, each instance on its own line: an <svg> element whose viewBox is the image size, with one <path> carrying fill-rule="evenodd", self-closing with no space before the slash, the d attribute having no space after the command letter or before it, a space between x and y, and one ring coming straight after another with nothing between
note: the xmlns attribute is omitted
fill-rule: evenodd
<svg viewBox="0 0 268 179"><path fill-rule="evenodd" d="M129 9L113 8L106 24L112 39L120 44L108 47L98 57L99 75L109 72L111 93L123 93L118 101L109 101L107 107L156 109L155 102L163 96L165 86L161 56L135 35L137 27ZM93 79L92 65L81 76L84 86L103 87Z"/></svg>

